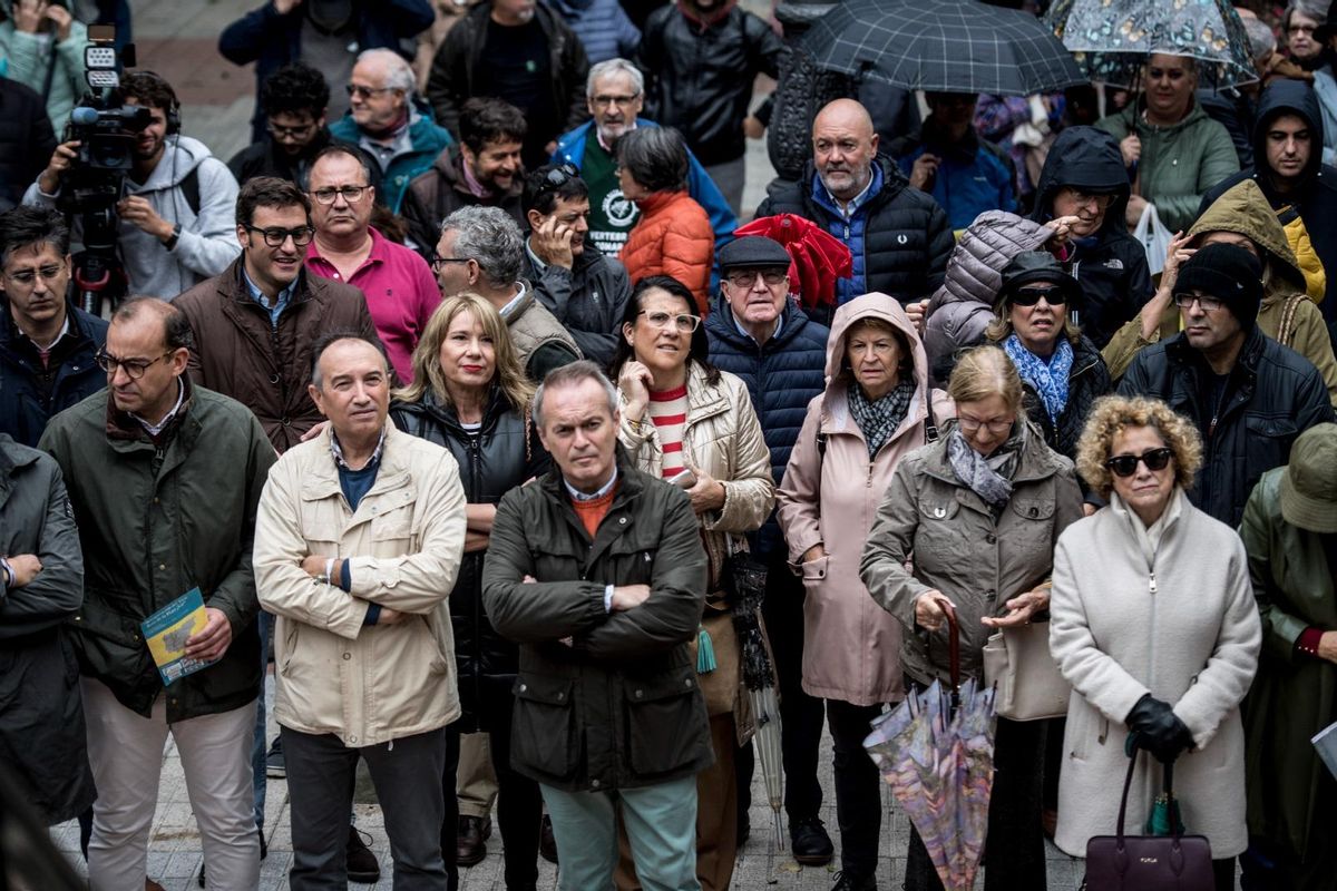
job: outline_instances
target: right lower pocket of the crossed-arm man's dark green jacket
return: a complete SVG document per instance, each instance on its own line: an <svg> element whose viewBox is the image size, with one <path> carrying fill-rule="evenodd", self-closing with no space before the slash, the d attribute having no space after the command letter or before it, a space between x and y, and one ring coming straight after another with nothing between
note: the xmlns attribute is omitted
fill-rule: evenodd
<svg viewBox="0 0 1337 891"><path fill-rule="evenodd" d="M652 777L691 764L701 755L707 720L695 671L628 679L624 685L631 771Z"/></svg>

